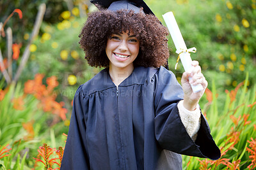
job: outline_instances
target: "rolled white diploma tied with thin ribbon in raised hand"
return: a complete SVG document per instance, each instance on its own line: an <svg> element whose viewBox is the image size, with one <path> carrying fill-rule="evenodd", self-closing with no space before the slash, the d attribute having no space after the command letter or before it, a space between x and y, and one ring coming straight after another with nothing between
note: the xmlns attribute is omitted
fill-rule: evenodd
<svg viewBox="0 0 256 170"><path fill-rule="evenodd" d="M180 33L180 29L178 27L178 24L174 18L174 15L172 11L168 13L164 13L163 15L164 22L167 25L167 28L172 36L173 43L176 48L176 53L179 53L180 55L180 60L182 62L182 65L184 67L184 70L188 73L191 73L193 66L192 66L192 60L190 57L190 53L187 52L188 48L184 42L184 39L182 38L182 35ZM189 77L189 80L191 77ZM203 87L201 84L199 85L191 85L191 88L193 92L200 92Z"/></svg>

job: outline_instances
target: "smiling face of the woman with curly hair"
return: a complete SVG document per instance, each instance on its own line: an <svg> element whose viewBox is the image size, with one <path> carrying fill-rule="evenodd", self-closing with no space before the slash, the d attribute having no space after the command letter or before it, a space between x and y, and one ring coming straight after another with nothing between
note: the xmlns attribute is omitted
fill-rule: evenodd
<svg viewBox="0 0 256 170"><path fill-rule="evenodd" d="M132 71L134 69L133 61L138 56L140 42L134 34L128 31L122 34L112 34L108 39L106 54L109 59L109 68Z"/></svg>

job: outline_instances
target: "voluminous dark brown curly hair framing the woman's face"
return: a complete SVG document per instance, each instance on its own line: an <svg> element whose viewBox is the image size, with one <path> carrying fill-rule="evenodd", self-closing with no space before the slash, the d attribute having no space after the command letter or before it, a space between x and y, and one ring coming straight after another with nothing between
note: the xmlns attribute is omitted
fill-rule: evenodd
<svg viewBox="0 0 256 170"><path fill-rule="evenodd" d="M140 51L134 66L159 67L169 57L168 29L156 16L132 10L100 10L90 13L79 34L79 44L90 66L108 67L106 45L111 34L132 31L140 41Z"/></svg>

